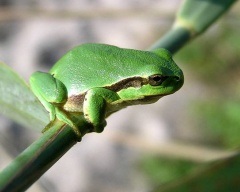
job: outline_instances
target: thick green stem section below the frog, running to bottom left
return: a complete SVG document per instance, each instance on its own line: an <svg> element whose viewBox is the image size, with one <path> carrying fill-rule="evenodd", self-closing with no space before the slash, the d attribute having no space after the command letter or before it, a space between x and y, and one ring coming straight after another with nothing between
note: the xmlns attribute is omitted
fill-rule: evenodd
<svg viewBox="0 0 240 192"><path fill-rule="evenodd" d="M76 143L72 129L57 121L0 173L0 191L25 191Z"/></svg>

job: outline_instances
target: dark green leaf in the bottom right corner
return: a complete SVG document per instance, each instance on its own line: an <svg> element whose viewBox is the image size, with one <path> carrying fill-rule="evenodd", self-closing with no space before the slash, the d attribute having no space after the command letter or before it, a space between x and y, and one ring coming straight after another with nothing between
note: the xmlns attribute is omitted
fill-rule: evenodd
<svg viewBox="0 0 240 192"><path fill-rule="evenodd" d="M240 189L240 153L202 168L187 177L160 186L156 192L238 191Z"/></svg>

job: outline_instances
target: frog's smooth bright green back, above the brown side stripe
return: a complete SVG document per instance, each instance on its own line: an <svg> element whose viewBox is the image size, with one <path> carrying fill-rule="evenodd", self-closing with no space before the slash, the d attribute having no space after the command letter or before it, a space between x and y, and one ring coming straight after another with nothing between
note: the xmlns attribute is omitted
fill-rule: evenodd
<svg viewBox="0 0 240 192"><path fill-rule="evenodd" d="M151 52L83 44L65 54L50 73L65 84L69 95L78 95L93 87L106 87L128 77L142 75L138 70L141 65L158 59Z"/></svg>

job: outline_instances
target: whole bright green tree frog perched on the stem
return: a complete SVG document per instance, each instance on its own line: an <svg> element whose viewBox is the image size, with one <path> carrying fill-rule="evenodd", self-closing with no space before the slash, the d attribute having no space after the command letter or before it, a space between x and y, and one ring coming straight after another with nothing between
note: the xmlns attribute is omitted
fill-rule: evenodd
<svg viewBox="0 0 240 192"><path fill-rule="evenodd" d="M83 44L65 54L49 73L30 77L34 94L50 113L81 133L71 115L84 115L94 132L105 118L130 105L154 103L183 85L182 70L165 49L153 52Z"/></svg>

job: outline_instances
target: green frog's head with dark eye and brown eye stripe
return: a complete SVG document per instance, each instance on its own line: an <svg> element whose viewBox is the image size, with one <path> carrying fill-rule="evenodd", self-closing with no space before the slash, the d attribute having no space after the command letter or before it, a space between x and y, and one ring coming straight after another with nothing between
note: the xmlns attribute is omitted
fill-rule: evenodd
<svg viewBox="0 0 240 192"><path fill-rule="evenodd" d="M124 100L135 101L136 104L153 103L159 98L179 90L184 82L182 70L165 49L157 49L148 57L149 64L144 65L141 76L133 79L133 86L119 92Z"/></svg>

